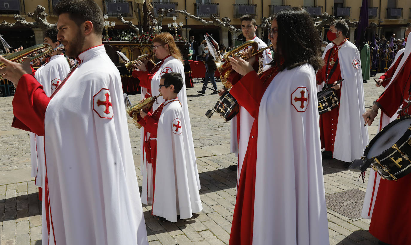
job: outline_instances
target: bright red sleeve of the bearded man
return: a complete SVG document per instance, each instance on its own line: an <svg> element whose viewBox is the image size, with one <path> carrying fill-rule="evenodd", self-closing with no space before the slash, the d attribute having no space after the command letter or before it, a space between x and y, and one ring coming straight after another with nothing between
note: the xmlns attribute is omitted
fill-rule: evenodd
<svg viewBox="0 0 411 245"><path fill-rule="evenodd" d="M43 136L44 116L50 100L43 86L31 74L24 74L12 101L15 117L12 126Z"/></svg>

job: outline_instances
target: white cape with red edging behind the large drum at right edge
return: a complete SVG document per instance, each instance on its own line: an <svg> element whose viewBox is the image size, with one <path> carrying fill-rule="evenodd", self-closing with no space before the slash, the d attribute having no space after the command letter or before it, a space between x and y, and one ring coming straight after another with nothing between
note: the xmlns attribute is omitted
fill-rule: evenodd
<svg viewBox="0 0 411 245"><path fill-rule="evenodd" d="M405 52L405 51L407 51L407 52ZM411 53L411 47L408 48L408 49L403 48L403 49L399 50L397 55L395 55L394 62L393 62L393 64L391 64L391 66L393 66L395 64L395 61L398 59L398 57L401 56L402 53L404 53L404 56L402 57L401 61L399 62L397 70L395 70L394 75L391 78L390 82L388 83L386 89L392 84L394 78L399 73L400 68L404 65L405 61L409 57L409 55ZM391 68L391 66L390 66L390 68ZM398 110L401 110L401 107ZM381 130L382 128L387 126L387 124L389 124L390 122L397 119L397 116L398 116L398 114L396 113L396 114L393 115L393 117L388 117L388 115L386 115L384 112L381 111L381 119L380 119L380 122L379 122L379 130ZM365 192L365 197L364 197L363 211L361 212L361 217L363 217L365 219L371 219L371 217L372 217L372 212L374 211L374 204L375 204L375 200L376 200L376 197L377 197L378 187L379 187L380 181L381 181L381 177L377 174L377 172L370 169L368 184L367 184L367 191Z"/></svg>

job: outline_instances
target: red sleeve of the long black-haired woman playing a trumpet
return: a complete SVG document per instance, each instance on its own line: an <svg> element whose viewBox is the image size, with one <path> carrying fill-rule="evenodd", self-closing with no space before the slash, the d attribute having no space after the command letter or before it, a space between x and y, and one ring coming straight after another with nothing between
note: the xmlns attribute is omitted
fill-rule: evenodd
<svg viewBox="0 0 411 245"><path fill-rule="evenodd" d="M241 78L230 90L230 94L237 99L248 113L256 118L265 87L255 71L250 71Z"/></svg>

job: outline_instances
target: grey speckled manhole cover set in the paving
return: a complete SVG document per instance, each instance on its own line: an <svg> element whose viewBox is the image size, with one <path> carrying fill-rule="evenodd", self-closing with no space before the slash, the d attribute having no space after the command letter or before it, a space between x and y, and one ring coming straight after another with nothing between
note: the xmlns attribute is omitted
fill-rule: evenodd
<svg viewBox="0 0 411 245"><path fill-rule="evenodd" d="M365 192L358 189L326 195L327 208L352 220L361 218Z"/></svg>

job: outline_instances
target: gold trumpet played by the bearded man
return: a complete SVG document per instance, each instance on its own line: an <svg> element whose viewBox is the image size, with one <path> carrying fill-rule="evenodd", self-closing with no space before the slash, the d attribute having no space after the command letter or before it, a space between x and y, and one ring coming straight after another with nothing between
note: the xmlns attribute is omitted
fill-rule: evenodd
<svg viewBox="0 0 411 245"><path fill-rule="evenodd" d="M53 52L55 52L55 51L57 51L57 50L63 50L63 49L65 49L65 48L64 48L64 45L63 45L63 44L60 44L60 45L57 46L56 48L51 47L50 44L37 44L37 45L35 45L35 46L31 46L30 48L25 48L25 49L23 49L23 50L21 50L21 51L18 51L18 52L16 52L16 53L7 54L4 58L7 59L7 60L9 60L9 61L22 63L22 62L23 62L23 57L25 57L25 56L27 56L27 55L29 55L29 54L31 54L31 53L37 52L37 51L39 51L39 50L43 50L43 49L46 49L46 50L45 50L43 53L41 53L41 54L38 54L38 55L36 55L36 56L34 56L34 57L31 57L31 58L30 58L30 62L33 62L33 61L38 60L38 59L40 59L40 58L42 58L42 57L44 57L44 56L46 56L46 55L51 54L51 53L53 53ZM2 67L4 67L4 66L5 66L5 64L2 63L2 62L0 62L0 68L2 68ZM3 79L3 76L2 76L2 75L0 75L0 80L1 80L1 79Z"/></svg>

